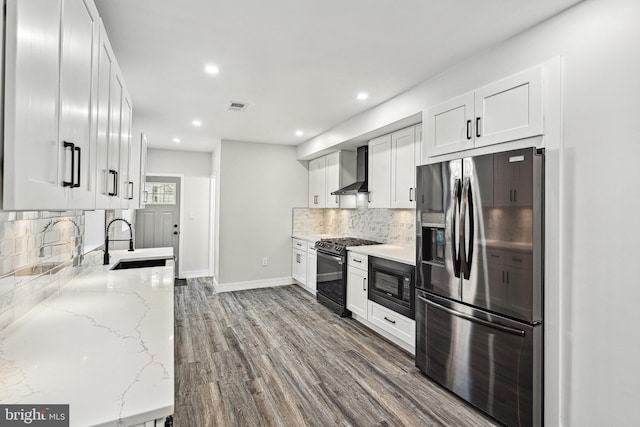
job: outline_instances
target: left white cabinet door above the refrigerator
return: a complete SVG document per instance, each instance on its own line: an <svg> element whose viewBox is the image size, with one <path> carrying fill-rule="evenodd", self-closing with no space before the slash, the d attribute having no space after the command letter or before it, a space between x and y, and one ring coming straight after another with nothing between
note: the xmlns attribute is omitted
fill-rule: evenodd
<svg viewBox="0 0 640 427"><path fill-rule="evenodd" d="M438 104L427 113L429 156L473 148L473 92Z"/></svg>

